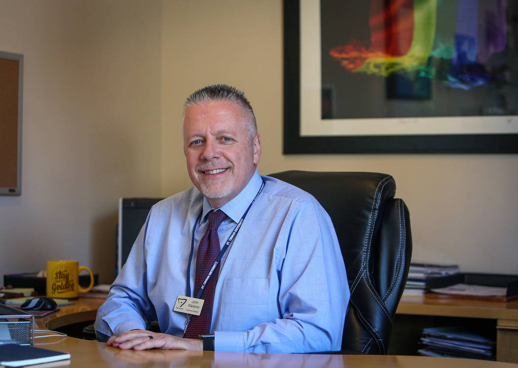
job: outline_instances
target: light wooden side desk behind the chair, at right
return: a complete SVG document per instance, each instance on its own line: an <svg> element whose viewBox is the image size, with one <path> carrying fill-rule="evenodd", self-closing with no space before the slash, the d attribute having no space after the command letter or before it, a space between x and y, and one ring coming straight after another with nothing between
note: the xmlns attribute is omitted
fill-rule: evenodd
<svg viewBox="0 0 518 368"><path fill-rule="evenodd" d="M496 359L518 363L518 300L504 303L465 298L404 296L396 314L494 320Z"/></svg>

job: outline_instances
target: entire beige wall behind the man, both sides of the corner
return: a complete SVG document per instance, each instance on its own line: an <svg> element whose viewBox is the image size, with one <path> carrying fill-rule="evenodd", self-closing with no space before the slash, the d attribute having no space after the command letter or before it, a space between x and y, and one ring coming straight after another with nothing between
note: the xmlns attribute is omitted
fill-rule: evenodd
<svg viewBox="0 0 518 368"><path fill-rule="evenodd" d="M25 55L22 196L0 196L0 273L75 258L110 282L117 199L191 185L184 97L229 83L252 102L259 170L382 171L414 255L518 273L518 155L283 155L282 2L0 0L0 50Z"/></svg>

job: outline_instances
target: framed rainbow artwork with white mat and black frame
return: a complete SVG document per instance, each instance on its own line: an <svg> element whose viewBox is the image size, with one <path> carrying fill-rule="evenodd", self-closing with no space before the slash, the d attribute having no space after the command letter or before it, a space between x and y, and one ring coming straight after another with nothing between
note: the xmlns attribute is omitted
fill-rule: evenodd
<svg viewBox="0 0 518 368"><path fill-rule="evenodd" d="M284 153L518 153L518 2L284 0Z"/></svg>

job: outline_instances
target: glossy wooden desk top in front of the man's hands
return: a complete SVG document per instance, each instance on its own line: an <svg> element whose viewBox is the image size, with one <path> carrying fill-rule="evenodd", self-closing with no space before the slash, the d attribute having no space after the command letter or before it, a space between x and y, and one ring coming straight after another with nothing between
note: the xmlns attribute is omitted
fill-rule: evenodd
<svg viewBox="0 0 518 368"><path fill-rule="evenodd" d="M46 337L45 342L58 337ZM66 337L50 345L40 345L50 350L70 353L70 366L117 367L416 367L441 368L509 367L518 364L455 358L430 358L415 356L382 355L320 355L320 354L253 354L240 352L186 351L186 350L119 350L104 343ZM56 362L59 366L60 362ZM63 364L63 363L61 363ZM53 365L50 365L53 366Z"/></svg>

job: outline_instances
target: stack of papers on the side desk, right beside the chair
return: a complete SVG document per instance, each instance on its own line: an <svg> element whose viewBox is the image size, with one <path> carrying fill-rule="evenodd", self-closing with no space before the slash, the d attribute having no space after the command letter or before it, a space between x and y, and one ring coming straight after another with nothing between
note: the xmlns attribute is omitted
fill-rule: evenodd
<svg viewBox="0 0 518 368"><path fill-rule="evenodd" d="M420 295L428 291L428 282L434 277L443 277L461 272L458 264L411 262L404 295Z"/></svg>

